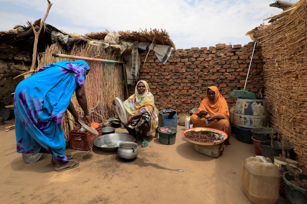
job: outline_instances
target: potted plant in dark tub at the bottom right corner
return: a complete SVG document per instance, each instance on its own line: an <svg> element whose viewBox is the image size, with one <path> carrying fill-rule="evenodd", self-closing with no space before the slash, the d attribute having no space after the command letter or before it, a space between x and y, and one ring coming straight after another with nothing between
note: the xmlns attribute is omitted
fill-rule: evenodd
<svg viewBox="0 0 307 204"><path fill-rule="evenodd" d="M286 200L288 203L307 203L307 174L286 172L282 175L286 184Z"/></svg>

